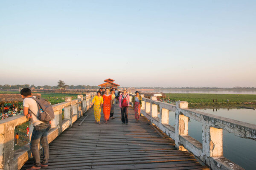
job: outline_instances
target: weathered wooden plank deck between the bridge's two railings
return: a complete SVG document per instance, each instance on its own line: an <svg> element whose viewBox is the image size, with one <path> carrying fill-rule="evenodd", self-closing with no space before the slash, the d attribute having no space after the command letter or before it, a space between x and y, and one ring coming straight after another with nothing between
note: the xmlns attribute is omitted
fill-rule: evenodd
<svg viewBox="0 0 256 170"><path fill-rule="evenodd" d="M79 126L84 117L73 127L65 130L49 144L49 166L43 170L128 170L128 169L208 169L202 166L188 152L175 148L172 139L162 133L162 138L144 116L136 123L134 111L128 109L129 123L123 125L118 104L115 104L114 117L108 124L94 123L91 108L89 116ZM32 166L32 159L23 165L22 170Z"/></svg>

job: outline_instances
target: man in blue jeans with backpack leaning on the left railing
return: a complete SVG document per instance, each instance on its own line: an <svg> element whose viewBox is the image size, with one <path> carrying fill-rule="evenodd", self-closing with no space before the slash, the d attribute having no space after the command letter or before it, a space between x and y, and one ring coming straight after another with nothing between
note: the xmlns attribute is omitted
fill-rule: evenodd
<svg viewBox="0 0 256 170"><path fill-rule="evenodd" d="M23 113L25 116L30 118L31 123L34 126L30 141L30 149L33 158L35 159L35 163L34 166L30 167L27 170L39 170L41 169L41 167L48 166L49 144L47 140L47 135L50 128L49 120L52 120L54 118L54 113L52 116L52 106L44 103L42 99L38 100L35 96L32 96L31 90L29 88L23 88L20 91L20 94L23 98ZM45 115L48 115L49 117ZM39 141L44 148L42 163L38 150Z"/></svg>

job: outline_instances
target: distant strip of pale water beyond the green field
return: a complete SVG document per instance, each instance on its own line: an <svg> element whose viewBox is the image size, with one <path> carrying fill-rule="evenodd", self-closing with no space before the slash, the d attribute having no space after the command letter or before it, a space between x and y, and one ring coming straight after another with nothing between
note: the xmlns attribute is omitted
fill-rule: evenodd
<svg viewBox="0 0 256 170"><path fill-rule="evenodd" d="M234 91L234 90L220 90L220 91L195 91L195 90L157 90L154 92L163 93L196 93L196 94L256 94L256 91Z"/></svg>

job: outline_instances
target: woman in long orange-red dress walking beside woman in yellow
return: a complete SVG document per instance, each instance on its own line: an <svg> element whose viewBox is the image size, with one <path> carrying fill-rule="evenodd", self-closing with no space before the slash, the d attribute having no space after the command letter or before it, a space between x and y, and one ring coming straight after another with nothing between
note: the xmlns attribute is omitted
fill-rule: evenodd
<svg viewBox="0 0 256 170"><path fill-rule="evenodd" d="M111 98L111 94L109 94L109 89L106 89L105 94L102 96L103 97L103 114L104 114L104 119L105 119L105 123L108 123L109 120L109 116L110 116L110 110L112 108L112 98Z"/></svg>

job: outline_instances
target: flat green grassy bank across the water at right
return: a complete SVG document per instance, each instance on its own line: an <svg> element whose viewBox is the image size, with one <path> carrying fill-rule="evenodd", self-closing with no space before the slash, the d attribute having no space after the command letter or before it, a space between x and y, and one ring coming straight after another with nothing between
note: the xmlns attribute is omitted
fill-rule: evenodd
<svg viewBox="0 0 256 170"><path fill-rule="evenodd" d="M172 102L187 101L189 108L238 108L256 107L254 94L166 94ZM214 102L212 102L214 99ZM215 100L217 99L217 102ZM227 102L229 99L229 102Z"/></svg>

